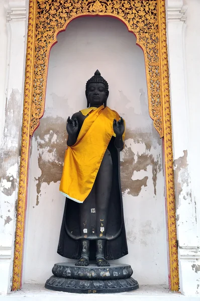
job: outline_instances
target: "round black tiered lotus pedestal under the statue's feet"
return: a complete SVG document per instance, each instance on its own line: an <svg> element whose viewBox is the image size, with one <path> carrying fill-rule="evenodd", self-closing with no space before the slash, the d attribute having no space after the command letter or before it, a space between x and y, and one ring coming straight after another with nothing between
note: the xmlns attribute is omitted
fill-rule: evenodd
<svg viewBox="0 0 200 301"><path fill-rule="evenodd" d="M98 267L95 264L75 266L72 263L56 263L45 287L51 290L75 293L112 293L123 292L139 287L131 275L133 270L128 264L112 264Z"/></svg>

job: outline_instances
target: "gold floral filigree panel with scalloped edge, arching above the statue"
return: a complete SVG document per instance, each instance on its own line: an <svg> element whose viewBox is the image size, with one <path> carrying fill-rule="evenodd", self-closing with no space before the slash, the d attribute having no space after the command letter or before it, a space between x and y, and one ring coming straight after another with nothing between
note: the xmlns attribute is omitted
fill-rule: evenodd
<svg viewBox="0 0 200 301"><path fill-rule="evenodd" d="M49 52L56 43L57 34L76 17L105 15L121 19L137 37L144 51L149 113L154 126L163 136L162 110L158 66L157 1L87 1L38 0L36 21L35 79L32 103L31 135L44 113Z"/></svg>

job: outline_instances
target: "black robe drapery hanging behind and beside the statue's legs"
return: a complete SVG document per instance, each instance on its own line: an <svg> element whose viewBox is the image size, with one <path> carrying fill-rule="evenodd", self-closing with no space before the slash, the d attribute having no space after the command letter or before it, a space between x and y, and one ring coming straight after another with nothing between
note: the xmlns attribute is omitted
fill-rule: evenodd
<svg viewBox="0 0 200 301"><path fill-rule="evenodd" d="M118 259L128 254L120 181L120 150L115 147L114 141L115 138L112 137L108 145L113 162L113 179L105 238L105 258L107 260ZM58 254L66 258L80 258L80 239L82 239L79 229L80 207L81 204L66 198L57 250ZM90 240L89 259L95 259L95 240Z"/></svg>

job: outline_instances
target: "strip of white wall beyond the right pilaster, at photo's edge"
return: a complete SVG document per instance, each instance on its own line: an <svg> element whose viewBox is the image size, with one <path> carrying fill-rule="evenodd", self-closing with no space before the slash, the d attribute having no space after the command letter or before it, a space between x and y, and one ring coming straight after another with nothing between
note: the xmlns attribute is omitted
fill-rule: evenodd
<svg viewBox="0 0 200 301"><path fill-rule="evenodd" d="M190 145L190 170L191 170L191 186L192 198L195 201L196 219L198 227L198 238L200 233L200 191L199 191L199 170L200 161L199 148L199 112L200 112L200 23L199 0L184 0L187 6L186 12L186 29L185 29L185 59L186 59L186 76L187 76L187 95L189 109L189 145ZM199 239L198 239L199 245ZM200 271L199 271L200 273Z"/></svg>

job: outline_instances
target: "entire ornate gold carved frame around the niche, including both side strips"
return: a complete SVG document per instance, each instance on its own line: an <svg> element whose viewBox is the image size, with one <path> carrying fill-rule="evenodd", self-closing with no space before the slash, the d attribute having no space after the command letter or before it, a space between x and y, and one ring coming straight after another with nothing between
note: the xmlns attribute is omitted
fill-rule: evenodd
<svg viewBox="0 0 200 301"><path fill-rule="evenodd" d="M22 150L17 207L13 290L21 288L30 135L44 113L48 59L59 32L80 16L112 16L123 21L143 49L149 114L163 137L170 288L178 290L178 257L172 129L166 44L165 0L29 0Z"/></svg>

